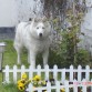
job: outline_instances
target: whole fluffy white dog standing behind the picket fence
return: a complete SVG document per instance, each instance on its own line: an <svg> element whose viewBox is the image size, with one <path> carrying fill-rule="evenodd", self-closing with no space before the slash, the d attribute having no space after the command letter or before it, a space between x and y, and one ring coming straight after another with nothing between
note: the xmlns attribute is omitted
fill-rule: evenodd
<svg viewBox="0 0 92 92"><path fill-rule="evenodd" d="M51 25L43 19L32 19L31 23L21 22L16 30L14 49L20 61L22 47L28 49L28 62L35 68L35 57L42 52L43 64L48 64Z"/></svg>

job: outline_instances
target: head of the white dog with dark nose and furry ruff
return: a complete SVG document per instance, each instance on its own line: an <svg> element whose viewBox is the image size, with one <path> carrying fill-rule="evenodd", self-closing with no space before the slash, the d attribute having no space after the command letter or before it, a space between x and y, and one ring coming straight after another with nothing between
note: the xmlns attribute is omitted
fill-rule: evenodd
<svg viewBox="0 0 92 92"><path fill-rule="evenodd" d="M51 33L51 25L48 19L34 18L30 27L31 34L37 39L48 38Z"/></svg>

